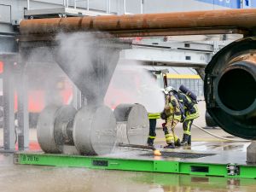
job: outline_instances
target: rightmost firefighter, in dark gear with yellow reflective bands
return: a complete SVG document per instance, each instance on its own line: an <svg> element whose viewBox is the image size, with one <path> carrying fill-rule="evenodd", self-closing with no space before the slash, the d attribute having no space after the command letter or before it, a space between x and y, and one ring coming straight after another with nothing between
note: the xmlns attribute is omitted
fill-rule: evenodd
<svg viewBox="0 0 256 192"><path fill-rule="evenodd" d="M177 96L179 98L179 101L183 103L185 115L185 118L183 119L183 140L181 142L181 145L191 145L191 126L194 119L199 117L199 112L196 105L197 102L193 101L182 91L178 91Z"/></svg>

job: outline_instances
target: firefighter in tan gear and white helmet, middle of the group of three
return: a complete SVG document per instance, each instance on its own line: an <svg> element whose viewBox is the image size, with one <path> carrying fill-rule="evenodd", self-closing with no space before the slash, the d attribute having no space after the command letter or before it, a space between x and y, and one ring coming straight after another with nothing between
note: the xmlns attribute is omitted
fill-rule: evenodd
<svg viewBox="0 0 256 192"><path fill-rule="evenodd" d="M175 148L180 145L179 139L175 135L174 128L181 120L180 106L176 96L174 96L175 90L172 86L166 87L164 90L166 94L166 124L163 124L163 131L165 132L167 146L164 148Z"/></svg>

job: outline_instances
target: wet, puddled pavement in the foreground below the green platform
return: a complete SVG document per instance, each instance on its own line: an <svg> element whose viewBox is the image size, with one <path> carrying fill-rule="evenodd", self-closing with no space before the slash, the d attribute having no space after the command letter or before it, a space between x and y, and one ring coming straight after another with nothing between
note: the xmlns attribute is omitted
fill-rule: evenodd
<svg viewBox="0 0 256 192"><path fill-rule="evenodd" d="M0 154L1 192L256 191L255 179L22 166L12 160L12 154Z"/></svg>

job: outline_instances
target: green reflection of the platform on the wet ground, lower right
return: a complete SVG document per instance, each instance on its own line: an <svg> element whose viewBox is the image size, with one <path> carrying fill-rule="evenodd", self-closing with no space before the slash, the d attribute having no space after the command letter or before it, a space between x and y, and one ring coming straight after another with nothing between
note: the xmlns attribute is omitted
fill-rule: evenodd
<svg viewBox="0 0 256 192"><path fill-rule="evenodd" d="M147 173L134 178L138 183L151 184L155 191L256 191L255 179L200 177L181 174Z"/></svg>

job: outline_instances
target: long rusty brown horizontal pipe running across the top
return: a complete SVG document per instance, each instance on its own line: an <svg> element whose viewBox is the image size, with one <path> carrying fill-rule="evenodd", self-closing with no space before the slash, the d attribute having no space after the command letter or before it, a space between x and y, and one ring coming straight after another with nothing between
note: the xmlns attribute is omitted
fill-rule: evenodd
<svg viewBox="0 0 256 192"><path fill-rule="evenodd" d="M56 32L104 31L111 34L127 31L151 32L171 29L233 27L250 30L256 26L256 9L225 9L144 15L84 16L22 20L21 35ZM142 36L141 34L140 36ZM125 35L123 35L125 36ZM134 35L135 36L135 35Z"/></svg>

